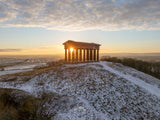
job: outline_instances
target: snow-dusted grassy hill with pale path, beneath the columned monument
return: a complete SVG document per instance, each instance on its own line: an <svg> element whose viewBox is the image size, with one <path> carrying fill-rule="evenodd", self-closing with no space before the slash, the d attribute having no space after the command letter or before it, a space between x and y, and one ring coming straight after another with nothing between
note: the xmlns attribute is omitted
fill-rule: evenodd
<svg viewBox="0 0 160 120"><path fill-rule="evenodd" d="M54 120L160 119L160 80L121 64L66 64L41 74L2 76L0 87L58 95L44 106L56 113Z"/></svg>

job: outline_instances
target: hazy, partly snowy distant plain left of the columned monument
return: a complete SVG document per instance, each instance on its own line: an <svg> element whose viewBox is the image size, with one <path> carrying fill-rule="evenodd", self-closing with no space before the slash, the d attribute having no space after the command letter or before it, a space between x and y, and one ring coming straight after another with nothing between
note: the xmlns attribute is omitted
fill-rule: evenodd
<svg viewBox="0 0 160 120"><path fill-rule="evenodd" d="M35 67L61 59L60 56L0 56L0 75L31 71Z"/></svg>

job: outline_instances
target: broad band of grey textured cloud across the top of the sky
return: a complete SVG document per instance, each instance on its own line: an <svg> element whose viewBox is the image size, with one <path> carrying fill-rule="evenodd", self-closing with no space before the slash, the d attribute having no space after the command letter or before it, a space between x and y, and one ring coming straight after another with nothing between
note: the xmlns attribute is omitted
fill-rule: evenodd
<svg viewBox="0 0 160 120"><path fill-rule="evenodd" d="M0 0L0 24L54 30L160 29L160 0Z"/></svg>

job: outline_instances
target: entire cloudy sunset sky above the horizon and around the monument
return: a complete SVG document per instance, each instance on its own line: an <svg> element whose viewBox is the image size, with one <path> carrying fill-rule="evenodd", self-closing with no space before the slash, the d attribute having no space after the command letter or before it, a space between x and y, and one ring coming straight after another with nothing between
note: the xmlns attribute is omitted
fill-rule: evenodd
<svg viewBox="0 0 160 120"><path fill-rule="evenodd" d="M66 40L160 52L160 0L0 0L0 55L62 54Z"/></svg>

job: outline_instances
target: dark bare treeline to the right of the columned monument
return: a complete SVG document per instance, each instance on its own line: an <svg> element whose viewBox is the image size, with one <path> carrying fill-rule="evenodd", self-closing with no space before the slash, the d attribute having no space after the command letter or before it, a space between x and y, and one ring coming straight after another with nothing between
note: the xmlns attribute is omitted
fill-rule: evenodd
<svg viewBox="0 0 160 120"><path fill-rule="evenodd" d="M121 63L123 65L135 68L139 71L152 75L160 79L160 62L146 62L133 58L119 59L117 57L106 57L103 56L101 61L109 61L114 63Z"/></svg>

